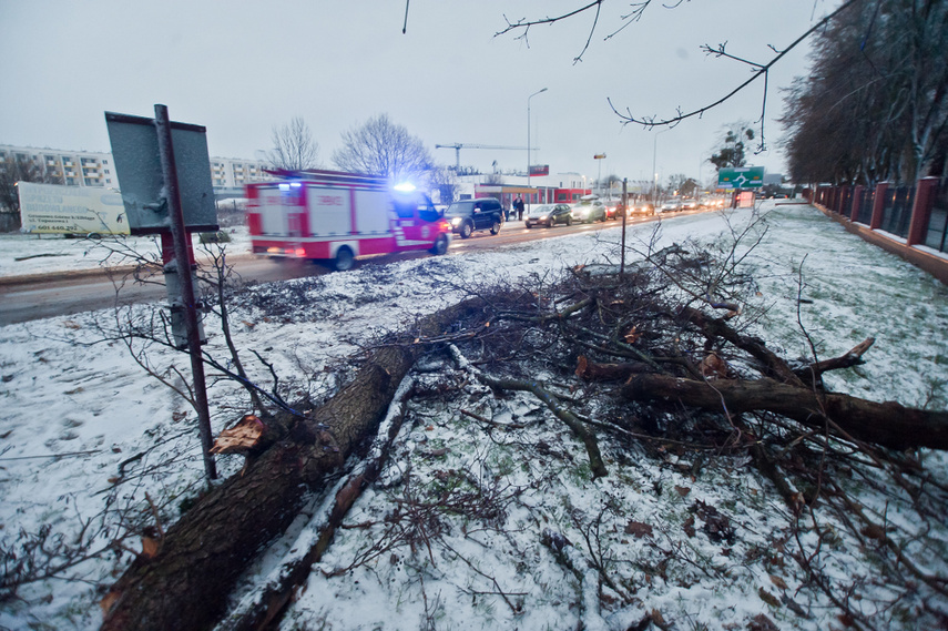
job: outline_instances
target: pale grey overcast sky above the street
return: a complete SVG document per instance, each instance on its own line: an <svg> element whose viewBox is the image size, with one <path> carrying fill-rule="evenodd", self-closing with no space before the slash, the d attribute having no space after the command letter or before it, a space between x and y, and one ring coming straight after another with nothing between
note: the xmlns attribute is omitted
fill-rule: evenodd
<svg viewBox="0 0 948 631"><path fill-rule="evenodd" d="M673 130L623 126L608 99L635 115L673 115L717 100L748 67L703 54L766 62L838 6L838 0L654 0L640 22L611 39L629 1L605 2L582 61L593 14L534 27L529 40L495 37L511 21L565 12L587 0L0 0L0 144L111 151L104 111L154 115L207 128L211 155L253 159L272 129L302 116L330 166L340 134L387 113L436 144L527 145L530 94L534 164L663 182L684 173L707 181L707 156L723 129L761 116L763 82ZM666 4L670 4L666 0ZM781 88L807 69L798 47L771 72L769 150L750 162L785 170L775 121ZM659 133L659 135L656 135ZM606 159L593 160L605 153ZM461 164L522 171L526 151L461 150ZM703 162L703 165L702 165ZM701 173L699 173L701 171ZM539 183L539 182L537 182Z"/></svg>

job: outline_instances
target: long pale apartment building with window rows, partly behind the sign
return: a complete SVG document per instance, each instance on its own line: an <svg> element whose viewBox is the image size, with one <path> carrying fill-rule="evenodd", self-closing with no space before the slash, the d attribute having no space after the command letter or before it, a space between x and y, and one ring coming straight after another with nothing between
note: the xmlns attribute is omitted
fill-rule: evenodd
<svg viewBox="0 0 948 631"><path fill-rule="evenodd" d="M102 186L118 189L115 165L111 153L89 151L64 151L0 144L0 170L3 164L32 162L50 177L67 186ZM264 172L266 162L234 157L211 159L211 182L215 191L238 191L249 182L265 182L272 177Z"/></svg>

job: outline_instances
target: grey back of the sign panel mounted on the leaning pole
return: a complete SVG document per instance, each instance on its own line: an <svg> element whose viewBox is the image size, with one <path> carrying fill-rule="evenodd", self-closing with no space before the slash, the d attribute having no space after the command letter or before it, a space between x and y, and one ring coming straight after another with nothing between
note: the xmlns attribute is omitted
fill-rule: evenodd
<svg viewBox="0 0 948 631"><path fill-rule="evenodd" d="M105 112L105 124L132 234L170 232L154 119ZM184 225L190 232L216 231L206 130L171 122L171 139Z"/></svg>

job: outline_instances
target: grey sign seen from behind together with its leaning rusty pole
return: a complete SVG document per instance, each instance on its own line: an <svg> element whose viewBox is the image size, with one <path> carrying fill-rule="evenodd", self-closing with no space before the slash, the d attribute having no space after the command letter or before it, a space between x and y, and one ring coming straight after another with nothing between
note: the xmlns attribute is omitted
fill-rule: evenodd
<svg viewBox="0 0 948 631"><path fill-rule="evenodd" d="M167 108L161 104L155 105L154 119L105 112L105 121L129 227L132 234L162 236L172 329L179 347L186 346L191 355L204 470L213 480L217 471L211 454L211 415L188 234L188 231L217 230L205 128L171 122ZM180 287L180 293L175 287ZM184 330L174 330L181 324Z"/></svg>

